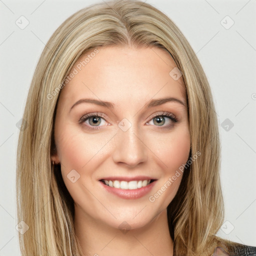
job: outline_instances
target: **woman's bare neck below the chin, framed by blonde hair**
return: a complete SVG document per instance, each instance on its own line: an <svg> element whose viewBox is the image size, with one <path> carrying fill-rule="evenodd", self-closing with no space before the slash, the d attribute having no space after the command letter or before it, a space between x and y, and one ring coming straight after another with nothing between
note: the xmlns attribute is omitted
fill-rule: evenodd
<svg viewBox="0 0 256 256"><path fill-rule="evenodd" d="M173 255L166 209L143 227L121 230L85 216L75 205L74 228L82 248L82 256Z"/></svg>

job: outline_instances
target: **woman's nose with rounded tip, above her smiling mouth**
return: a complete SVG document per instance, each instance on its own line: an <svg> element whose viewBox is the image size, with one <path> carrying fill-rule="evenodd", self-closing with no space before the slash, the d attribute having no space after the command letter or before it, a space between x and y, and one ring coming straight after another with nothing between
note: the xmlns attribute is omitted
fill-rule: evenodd
<svg viewBox="0 0 256 256"><path fill-rule="evenodd" d="M115 163L123 163L135 167L147 160L147 147L143 136L132 126L123 131L119 129L115 135L115 147L112 154Z"/></svg>

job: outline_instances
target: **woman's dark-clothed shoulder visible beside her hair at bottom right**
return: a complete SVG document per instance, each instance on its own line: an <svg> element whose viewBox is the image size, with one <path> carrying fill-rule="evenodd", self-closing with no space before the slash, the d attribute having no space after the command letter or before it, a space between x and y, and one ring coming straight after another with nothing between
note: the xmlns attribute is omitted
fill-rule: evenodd
<svg viewBox="0 0 256 256"><path fill-rule="evenodd" d="M212 256L256 256L256 247L226 240L215 247Z"/></svg>

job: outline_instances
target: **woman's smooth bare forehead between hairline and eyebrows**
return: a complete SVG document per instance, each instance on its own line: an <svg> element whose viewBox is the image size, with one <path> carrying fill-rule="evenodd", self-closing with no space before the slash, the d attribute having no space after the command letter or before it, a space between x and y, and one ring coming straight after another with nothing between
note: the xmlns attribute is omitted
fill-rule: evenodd
<svg viewBox="0 0 256 256"><path fill-rule="evenodd" d="M68 74L70 80L61 89L61 101L93 97L118 105L166 95L185 99L182 76L173 79L173 68L173 58L159 47L98 47L75 62Z"/></svg>

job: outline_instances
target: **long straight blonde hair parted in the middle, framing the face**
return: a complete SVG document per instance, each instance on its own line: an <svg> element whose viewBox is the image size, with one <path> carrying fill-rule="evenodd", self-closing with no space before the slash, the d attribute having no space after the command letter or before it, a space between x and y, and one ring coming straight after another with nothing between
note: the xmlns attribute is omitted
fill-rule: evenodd
<svg viewBox="0 0 256 256"><path fill-rule="evenodd" d="M211 91L186 38L161 11L137 0L108 1L81 9L52 34L37 63L29 89L17 149L17 219L29 227L19 234L22 255L81 255L74 232L73 200L54 146L55 108L64 80L82 55L105 45L165 48L182 73L191 135L190 156L201 155L184 171L167 208L174 255L211 255L221 241L223 221L218 124ZM57 168L57 171L56 171Z"/></svg>

